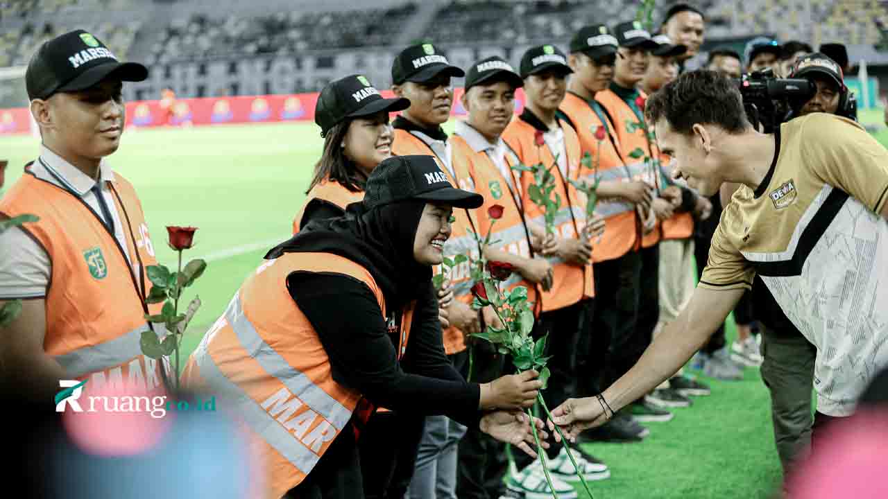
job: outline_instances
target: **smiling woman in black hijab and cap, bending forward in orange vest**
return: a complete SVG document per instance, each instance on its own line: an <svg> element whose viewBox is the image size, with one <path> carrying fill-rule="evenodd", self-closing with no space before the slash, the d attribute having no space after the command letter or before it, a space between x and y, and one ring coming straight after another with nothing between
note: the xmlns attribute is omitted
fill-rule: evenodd
<svg viewBox="0 0 888 499"><path fill-rule="evenodd" d="M345 217L266 255L189 359L189 388L215 394L262 453L269 497L363 497L356 441L379 406L443 414L533 454L519 409L537 374L471 384L444 355L432 265L453 207L483 201L445 178L431 156L381 162Z"/></svg>

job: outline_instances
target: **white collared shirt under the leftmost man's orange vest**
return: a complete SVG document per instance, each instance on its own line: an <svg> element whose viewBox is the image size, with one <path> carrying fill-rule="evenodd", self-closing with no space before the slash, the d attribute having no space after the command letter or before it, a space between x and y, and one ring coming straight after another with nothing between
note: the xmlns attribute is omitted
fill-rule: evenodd
<svg viewBox="0 0 888 499"><path fill-rule="evenodd" d="M99 200L93 193L96 181L70 162L62 159L45 146L40 147L40 157L31 164L31 173L36 178L59 186L80 197L90 208L102 217ZM114 194L108 182L114 183L114 171L103 159L99 163L101 194L108 212L114 221L115 239L123 248L124 257L129 261L127 235L121 223L114 202ZM46 287L52 275L52 262L40 244L19 227L0 234L0 299L36 298L46 296ZM138 265L138 264L137 264ZM139 272L139 269L133 269Z"/></svg>

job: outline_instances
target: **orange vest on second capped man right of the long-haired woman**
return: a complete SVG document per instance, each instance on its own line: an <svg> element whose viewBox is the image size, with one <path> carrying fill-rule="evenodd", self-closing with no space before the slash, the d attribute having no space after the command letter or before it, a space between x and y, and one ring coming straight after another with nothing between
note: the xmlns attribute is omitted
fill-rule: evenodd
<svg viewBox="0 0 888 499"><path fill-rule="evenodd" d="M475 192L484 196L484 204L475 211L479 236L483 238L492 230L490 241L498 241L500 249L519 257L532 258L530 232L524 219L521 193L516 192L513 187L520 186L518 176L511 171L511 184L506 182L496 163L486 152L476 153L465 139L458 135L451 137L450 142L451 147L454 147L454 155L461 154L469 159ZM510 167L515 166L518 164L518 158L511 158L510 154L506 154L506 162ZM503 218L496 220L496 225L494 219L488 216L488 209L495 204L501 204L504 208ZM543 311L543 289L537 284L525 281L517 272L512 273L504 281L505 289L511 290L519 286L527 288L527 301L533 304L531 307L538 317Z"/></svg>

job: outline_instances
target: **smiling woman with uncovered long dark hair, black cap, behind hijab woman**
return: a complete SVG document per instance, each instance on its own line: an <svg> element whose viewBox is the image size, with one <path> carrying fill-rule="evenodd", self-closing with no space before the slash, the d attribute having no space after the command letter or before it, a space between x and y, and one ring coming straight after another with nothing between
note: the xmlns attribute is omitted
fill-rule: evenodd
<svg viewBox="0 0 888 499"><path fill-rule="evenodd" d="M293 234L308 220L341 216L346 206L364 199L369 172L392 155L389 113L409 106L408 99L383 99L362 75L345 76L321 90L314 123L321 127L324 149L293 219Z"/></svg>

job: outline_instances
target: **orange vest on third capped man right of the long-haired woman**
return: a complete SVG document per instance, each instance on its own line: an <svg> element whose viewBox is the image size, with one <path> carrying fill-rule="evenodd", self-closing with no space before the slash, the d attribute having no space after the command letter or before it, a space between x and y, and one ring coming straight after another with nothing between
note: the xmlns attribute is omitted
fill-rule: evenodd
<svg viewBox="0 0 888 499"><path fill-rule="evenodd" d="M565 150L567 151L567 178L577 180L580 175L580 140L576 137L576 131L567 123L559 121L561 130L564 131ZM536 128L523 119L516 118L509 123L503 131L503 140L518 155L519 160L526 166L543 163L550 168L555 176L555 190L553 193L560 198L561 204L555 216L555 230L559 238L575 239L586 225L586 198L585 194L576 190L567 182L567 178L561 174L559 166L555 163L555 155L548 146L537 146L535 143ZM522 172L521 185L527 221L539 226L545 225L543 208L530 200L527 194L529 186L534 183L534 175L529 171ZM592 266L577 266L568 264L560 257L549 257L549 262L554 271L552 287L543 291L543 312L558 310L574 305L584 297L595 296L595 281L592 276Z"/></svg>

